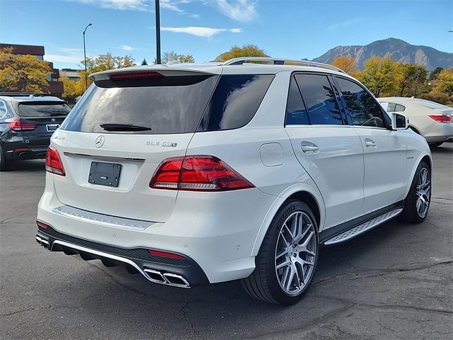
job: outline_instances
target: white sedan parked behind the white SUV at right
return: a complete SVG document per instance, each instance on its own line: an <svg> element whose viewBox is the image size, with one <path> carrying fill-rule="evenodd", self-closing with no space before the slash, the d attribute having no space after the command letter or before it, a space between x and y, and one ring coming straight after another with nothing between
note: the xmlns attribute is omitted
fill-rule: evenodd
<svg viewBox="0 0 453 340"><path fill-rule="evenodd" d="M418 98L377 98L385 111L403 113L409 118L409 127L423 135L428 144L438 147L453 141L453 108Z"/></svg>

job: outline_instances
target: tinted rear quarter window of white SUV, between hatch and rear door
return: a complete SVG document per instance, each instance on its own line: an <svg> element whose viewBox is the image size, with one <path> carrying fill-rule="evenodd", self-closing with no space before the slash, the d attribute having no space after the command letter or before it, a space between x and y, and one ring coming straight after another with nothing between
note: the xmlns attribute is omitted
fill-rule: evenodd
<svg viewBox="0 0 453 340"><path fill-rule="evenodd" d="M222 76L198 131L236 129L249 123L273 79L269 74Z"/></svg>

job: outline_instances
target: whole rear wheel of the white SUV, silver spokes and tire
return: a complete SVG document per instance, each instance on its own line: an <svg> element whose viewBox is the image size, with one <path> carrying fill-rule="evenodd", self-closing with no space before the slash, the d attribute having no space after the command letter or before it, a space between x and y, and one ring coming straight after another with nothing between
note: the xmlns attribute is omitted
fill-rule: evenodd
<svg viewBox="0 0 453 340"><path fill-rule="evenodd" d="M319 254L318 225L299 200L280 208L256 256L256 268L241 283L246 292L266 302L292 305L313 279Z"/></svg>

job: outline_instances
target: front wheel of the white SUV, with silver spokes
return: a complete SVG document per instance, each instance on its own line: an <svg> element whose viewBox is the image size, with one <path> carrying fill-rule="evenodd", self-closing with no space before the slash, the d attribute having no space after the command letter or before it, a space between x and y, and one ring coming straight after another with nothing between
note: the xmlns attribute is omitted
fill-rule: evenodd
<svg viewBox="0 0 453 340"><path fill-rule="evenodd" d="M407 222L420 223L428 216L431 202L431 171L428 164L420 162L406 197L402 217Z"/></svg>

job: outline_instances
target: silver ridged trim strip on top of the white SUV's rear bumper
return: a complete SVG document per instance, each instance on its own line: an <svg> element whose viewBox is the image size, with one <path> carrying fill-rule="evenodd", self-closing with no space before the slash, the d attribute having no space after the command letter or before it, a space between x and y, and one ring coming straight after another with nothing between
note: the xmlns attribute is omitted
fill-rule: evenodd
<svg viewBox="0 0 453 340"><path fill-rule="evenodd" d="M88 220L90 222L101 223L110 227L123 227L134 230L144 230L156 223L152 221L134 220L132 218L100 214L98 212L74 208L71 207L71 205L60 205L57 208L53 208L52 211L59 215L73 217L79 220Z"/></svg>

